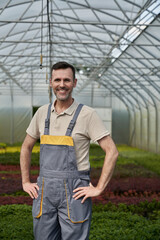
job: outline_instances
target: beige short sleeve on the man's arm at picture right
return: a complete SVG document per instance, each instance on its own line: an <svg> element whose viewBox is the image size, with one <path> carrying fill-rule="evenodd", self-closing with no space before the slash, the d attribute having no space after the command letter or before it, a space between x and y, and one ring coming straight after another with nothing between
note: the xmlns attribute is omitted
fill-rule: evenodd
<svg viewBox="0 0 160 240"><path fill-rule="evenodd" d="M106 129L103 121L100 119L97 112L94 110L90 115L88 122L88 136L93 141L96 142L101 138L110 135L109 131Z"/></svg>

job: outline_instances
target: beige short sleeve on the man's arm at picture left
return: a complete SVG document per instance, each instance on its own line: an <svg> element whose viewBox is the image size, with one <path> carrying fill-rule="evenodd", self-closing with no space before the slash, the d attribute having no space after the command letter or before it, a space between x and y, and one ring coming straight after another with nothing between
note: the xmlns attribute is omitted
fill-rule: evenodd
<svg viewBox="0 0 160 240"><path fill-rule="evenodd" d="M34 114L26 132L33 138L39 139L40 132L39 132L39 110Z"/></svg>

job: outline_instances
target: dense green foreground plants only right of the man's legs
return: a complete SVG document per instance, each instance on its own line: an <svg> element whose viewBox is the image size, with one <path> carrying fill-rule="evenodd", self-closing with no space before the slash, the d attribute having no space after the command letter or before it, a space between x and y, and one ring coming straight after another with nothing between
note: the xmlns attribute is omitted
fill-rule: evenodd
<svg viewBox="0 0 160 240"><path fill-rule="evenodd" d="M94 212L90 240L159 240L159 223L131 212Z"/></svg>

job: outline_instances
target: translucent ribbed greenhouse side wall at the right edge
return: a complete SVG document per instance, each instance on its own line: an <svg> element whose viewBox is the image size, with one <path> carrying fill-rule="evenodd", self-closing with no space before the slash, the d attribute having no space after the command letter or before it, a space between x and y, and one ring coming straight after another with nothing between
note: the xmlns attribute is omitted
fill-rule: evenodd
<svg viewBox="0 0 160 240"><path fill-rule="evenodd" d="M160 103L131 113L130 144L160 153Z"/></svg>

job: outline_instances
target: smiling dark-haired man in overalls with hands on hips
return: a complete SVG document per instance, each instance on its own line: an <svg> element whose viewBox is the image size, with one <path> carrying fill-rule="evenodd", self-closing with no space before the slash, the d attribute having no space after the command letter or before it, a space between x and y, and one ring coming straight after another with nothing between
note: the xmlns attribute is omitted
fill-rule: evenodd
<svg viewBox="0 0 160 240"><path fill-rule="evenodd" d="M75 69L66 62L52 67L50 86L54 104L38 109L21 149L22 185L33 198L34 236L37 240L89 239L91 197L107 186L118 151L95 110L76 103ZM30 182L31 152L40 144L40 174ZM89 178L90 140L106 152L102 173L94 187Z"/></svg>

